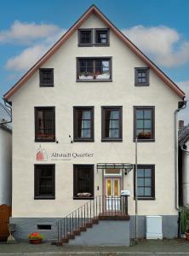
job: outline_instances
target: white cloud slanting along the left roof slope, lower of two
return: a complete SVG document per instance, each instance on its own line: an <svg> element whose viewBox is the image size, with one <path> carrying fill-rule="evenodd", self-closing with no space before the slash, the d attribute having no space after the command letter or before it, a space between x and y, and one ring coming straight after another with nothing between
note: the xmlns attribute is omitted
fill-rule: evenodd
<svg viewBox="0 0 189 256"><path fill-rule="evenodd" d="M20 55L15 55L6 62L6 69L11 71L22 72L31 68L48 50L49 48L62 36L66 30L58 32L54 37L48 37L39 44L27 47Z"/></svg>

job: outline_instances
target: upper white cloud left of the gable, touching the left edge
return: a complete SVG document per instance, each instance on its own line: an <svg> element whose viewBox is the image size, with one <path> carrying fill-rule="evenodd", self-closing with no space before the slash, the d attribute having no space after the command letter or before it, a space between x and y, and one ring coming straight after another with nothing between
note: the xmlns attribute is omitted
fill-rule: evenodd
<svg viewBox="0 0 189 256"><path fill-rule="evenodd" d="M8 30L0 31L0 43L31 44L33 41L54 36L60 32L60 27L53 24L14 23Z"/></svg>

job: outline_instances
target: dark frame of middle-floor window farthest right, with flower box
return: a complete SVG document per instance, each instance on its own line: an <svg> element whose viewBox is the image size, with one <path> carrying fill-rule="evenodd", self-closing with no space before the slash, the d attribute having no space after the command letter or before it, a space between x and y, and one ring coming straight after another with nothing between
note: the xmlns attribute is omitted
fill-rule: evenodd
<svg viewBox="0 0 189 256"><path fill-rule="evenodd" d="M139 143L153 143L155 142L155 106L134 106L134 138L135 142L136 137L136 110L151 110L151 119L152 119L152 138L137 138ZM142 129L141 129L142 130Z"/></svg>

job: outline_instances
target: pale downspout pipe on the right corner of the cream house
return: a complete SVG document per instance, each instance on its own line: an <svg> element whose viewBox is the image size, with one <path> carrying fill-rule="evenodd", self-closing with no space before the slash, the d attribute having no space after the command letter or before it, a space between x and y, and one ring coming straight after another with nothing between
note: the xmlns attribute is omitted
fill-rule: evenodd
<svg viewBox="0 0 189 256"><path fill-rule="evenodd" d="M175 109L174 121L175 121L175 208L179 210L179 192L178 192L178 113L180 110L186 108L186 101L183 98L182 102L179 102L179 108Z"/></svg>

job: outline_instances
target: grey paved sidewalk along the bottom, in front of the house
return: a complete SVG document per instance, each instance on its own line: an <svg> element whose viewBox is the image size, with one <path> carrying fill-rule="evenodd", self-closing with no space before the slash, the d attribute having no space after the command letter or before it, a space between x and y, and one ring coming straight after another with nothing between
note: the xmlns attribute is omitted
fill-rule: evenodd
<svg viewBox="0 0 189 256"><path fill-rule="evenodd" d="M22 255L22 256L59 256L59 255L83 255L83 256L140 256L140 255L163 255L163 256L189 256L189 242L185 240L163 240L163 241L139 241L137 245L130 247L63 247L52 246L49 242L33 245L28 242L6 244L0 242L0 256Z"/></svg>

